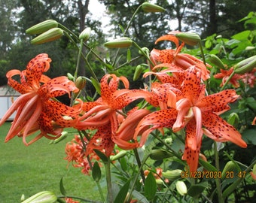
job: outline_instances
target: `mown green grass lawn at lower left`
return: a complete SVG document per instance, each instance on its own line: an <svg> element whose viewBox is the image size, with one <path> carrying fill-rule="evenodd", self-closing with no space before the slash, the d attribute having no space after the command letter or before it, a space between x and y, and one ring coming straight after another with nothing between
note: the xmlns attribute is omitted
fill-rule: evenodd
<svg viewBox="0 0 256 203"><path fill-rule="evenodd" d="M68 195L78 195L87 199L100 200L96 183L92 177L81 174L80 168L67 168L63 159L66 142L50 144L46 138L26 147L22 138L13 138L5 143L11 123L0 127L0 202L20 202L20 196L26 198L43 190L50 190L60 195L59 180Z"/></svg>

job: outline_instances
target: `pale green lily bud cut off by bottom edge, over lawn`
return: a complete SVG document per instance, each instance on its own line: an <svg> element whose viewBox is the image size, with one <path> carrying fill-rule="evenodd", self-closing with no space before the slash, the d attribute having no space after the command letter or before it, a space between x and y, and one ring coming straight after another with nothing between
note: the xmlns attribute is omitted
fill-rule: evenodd
<svg viewBox="0 0 256 203"><path fill-rule="evenodd" d="M27 198L25 201L23 201L23 203L54 203L56 201L57 197L53 192L43 191L32 195L30 198Z"/></svg>

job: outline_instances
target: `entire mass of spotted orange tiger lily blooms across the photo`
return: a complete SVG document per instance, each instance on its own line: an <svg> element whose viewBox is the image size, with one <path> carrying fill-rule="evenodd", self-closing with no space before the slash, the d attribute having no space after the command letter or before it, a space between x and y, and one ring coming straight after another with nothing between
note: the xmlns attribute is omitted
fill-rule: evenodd
<svg viewBox="0 0 256 203"><path fill-rule="evenodd" d="M151 71L145 72L143 77L154 80L150 80L152 82L145 89L129 89L126 77L105 74L100 81L101 95L95 102L84 102L80 98L69 106L59 102L59 96L68 94L72 97L81 89L66 76L50 79L44 74L51 62L46 53L35 56L23 71L8 71L8 85L21 95L0 121L1 126L17 111L5 141L17 135L29 145L42 137L59 138L63 129L70 127L95 132L88 133L89 139L84 140L85 152L78 137L66 147L69 162L77 161L78 165L88 167L84 157L94 156L93 150L111 156L115 145L123 150L144 146L148 135L154 130L164 134L164 128L172 129L172 132L184 129L182 159L187 162L190 171L197 171L203 135L214 141L230 141L239 147L246 147L240 133L220 117L239 95L234 89L208 95L205 82L210 77L211 65L180 53L185 43L180 42L176 34L169 32L157 39L156 44L172 41L176 48L151 50ZM20 75L20 81L14 80L16 75ZM136 100L144 102L126 111ZM29 135L38 131L35 138L26 141ZM84 173L87 174L88 170L84 168Z"/></svg>

